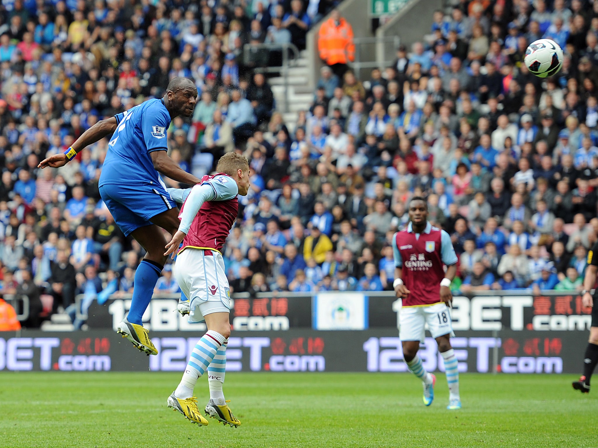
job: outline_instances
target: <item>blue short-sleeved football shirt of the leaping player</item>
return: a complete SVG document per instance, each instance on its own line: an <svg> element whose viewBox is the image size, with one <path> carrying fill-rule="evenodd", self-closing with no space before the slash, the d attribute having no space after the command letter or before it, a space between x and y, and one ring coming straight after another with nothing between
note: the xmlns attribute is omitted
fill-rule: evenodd
<svg viewBox="0 0 598 448"><path fill-rule="evenodd" d="M170 115L162 100L148 100L114 118L118 127L108 143L99 186L109 183L163 185L149 154L167 150Z"/></svg>

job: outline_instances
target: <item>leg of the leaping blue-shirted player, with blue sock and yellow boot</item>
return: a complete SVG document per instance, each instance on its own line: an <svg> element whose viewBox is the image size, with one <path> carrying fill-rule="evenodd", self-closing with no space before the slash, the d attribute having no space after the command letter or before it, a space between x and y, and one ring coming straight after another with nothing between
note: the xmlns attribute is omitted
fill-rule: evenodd
<svg viewBox="0 0 598 448"><path fill-rule="evenodd" d="M142 323L142 317L164 268L164 262L166 262L166 256L164 256L166 238L160 227L166 229L170 234L174 234L179 225L178 212L179 209L176 207L163 211L152 217L151 222L154 224L140 227L131 233L147 253L135 272L135 288L133 289L131 308L127 317L118 324L118 333L127 337L141 351L151 355L157 355L158 351L149 339L148 330Z"/></svg>

